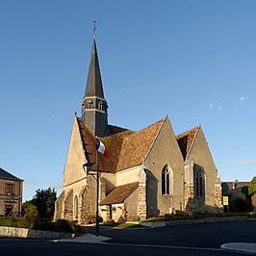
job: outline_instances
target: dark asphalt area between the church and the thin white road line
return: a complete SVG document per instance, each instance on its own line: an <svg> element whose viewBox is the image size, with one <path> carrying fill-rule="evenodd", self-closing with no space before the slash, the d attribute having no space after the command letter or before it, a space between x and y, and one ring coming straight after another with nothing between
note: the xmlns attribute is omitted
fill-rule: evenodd
<svg viewBox="0 0 256 256"><path fill-rule="evenodd" d="M93 233L93 229L90 228ZM223 243L256 243L256 219L188 224L156 229L104 229L109 243L139 243L219 248Z"/></svg>

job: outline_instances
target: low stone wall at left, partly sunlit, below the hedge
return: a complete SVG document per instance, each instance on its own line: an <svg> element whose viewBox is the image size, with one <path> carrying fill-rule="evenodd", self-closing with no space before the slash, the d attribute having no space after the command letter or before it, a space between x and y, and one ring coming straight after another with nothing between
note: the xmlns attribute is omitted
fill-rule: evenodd
<svg viewBox="0 0 256 256"><path fill-rule="evenodd" d="M0 237L55 240L74 238L75 234L0 226Z"/></svg>

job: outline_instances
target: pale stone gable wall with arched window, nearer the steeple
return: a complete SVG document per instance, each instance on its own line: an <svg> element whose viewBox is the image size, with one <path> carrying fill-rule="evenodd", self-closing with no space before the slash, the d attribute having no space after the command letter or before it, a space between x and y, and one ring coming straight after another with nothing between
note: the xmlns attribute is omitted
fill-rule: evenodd
<svg viewBox="0 0 256 256"><path fill-rule="evenodd" d="M183 202L183 163L180 148L166 118L144 160L147 174L147 217L180 210ZM170 193L162 194L162 170L166 165L170 172Z"/></svg>

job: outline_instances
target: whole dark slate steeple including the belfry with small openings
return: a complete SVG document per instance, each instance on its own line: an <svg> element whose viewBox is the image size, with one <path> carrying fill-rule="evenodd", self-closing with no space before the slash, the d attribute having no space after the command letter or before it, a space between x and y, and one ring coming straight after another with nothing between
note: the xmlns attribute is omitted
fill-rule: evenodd
<svg viewBox="0 0 256 256"><path fill-rule="evenodd" d="M92 39L87 88L82 99L81 113L92 135L106 136L108 132L108 104L103 92L95 35Z"/></svg>

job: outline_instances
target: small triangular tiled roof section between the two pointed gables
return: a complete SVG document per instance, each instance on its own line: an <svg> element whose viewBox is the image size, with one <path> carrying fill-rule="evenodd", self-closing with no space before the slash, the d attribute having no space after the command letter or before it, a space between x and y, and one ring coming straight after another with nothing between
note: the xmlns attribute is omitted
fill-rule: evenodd
<svg viewBox="0 0 256 256"><path fill-rule="evenodd" d="M193 138L196 135L199 127L200 126L198 125L198 126L192 128L191 130L188 130L188 131L176 136L176 140L179 144L179 147L180 147L180 150L181 150L184 160L186 159L186 157L190 151Z"/></svg>

